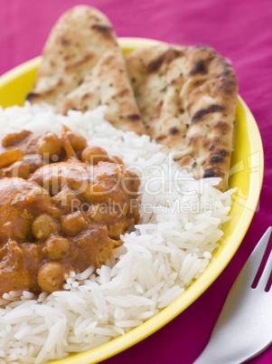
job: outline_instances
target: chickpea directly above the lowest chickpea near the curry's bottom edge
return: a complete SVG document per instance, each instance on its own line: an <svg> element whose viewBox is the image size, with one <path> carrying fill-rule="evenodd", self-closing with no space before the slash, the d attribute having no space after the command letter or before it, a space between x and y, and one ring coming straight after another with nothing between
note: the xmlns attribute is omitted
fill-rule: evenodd
<svg viewBox="0 0 272 364"><path fill-rule="evenodd" d="M42 253L49 259L62 259L69 254L70 242L63 236L51 235L43 244Z"/></svg>

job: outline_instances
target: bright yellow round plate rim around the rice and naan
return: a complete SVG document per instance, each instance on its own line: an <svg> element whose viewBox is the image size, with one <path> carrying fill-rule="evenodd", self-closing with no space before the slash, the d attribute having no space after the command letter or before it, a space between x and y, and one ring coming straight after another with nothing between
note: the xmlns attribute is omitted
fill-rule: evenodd
<svg viewBox="0 0 272 364"><path fill-rule="evenodd" d="M124 53L127 53L133 49L154 45L158 42L140 38L120 38L119 43ZM40 57L35 58L0 77L0 105L3 107L14 104L23 105L26 93L32 89L40 62ZM236 120L235 148L231 159L229 187L238 187L239 189L234 195L234 203L230 211L231 219L223 225L222 243L213 254L206 271L179 299L136 329L130 330L124 336L110 340L96 349L73 354L68 358L55 360L54 363L87 364L98 362L145 339L192 304L230 262L249 228L258 205L264 171L263 147L258 126L249 108L240 97Z"/></svg>

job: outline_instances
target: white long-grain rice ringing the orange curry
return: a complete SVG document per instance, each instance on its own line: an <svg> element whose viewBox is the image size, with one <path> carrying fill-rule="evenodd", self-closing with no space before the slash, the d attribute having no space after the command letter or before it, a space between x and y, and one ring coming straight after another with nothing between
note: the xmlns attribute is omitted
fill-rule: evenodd
<svg viewBox="0 0 272 364"><path fill-rule="evenodd" d="M124 244L108 265L97 274L93 267L71 273L61 292L38 298L9 292L0 299L1 364L59 359L148 320L205 270L230 218L231 191L214 188L219 178L194 180L148 136L114 129L103 120L104 110L64 117L45 104L0 109L0 139L21 129L41 134L63 123L142 177L140 224L122 236Z"/></svg>

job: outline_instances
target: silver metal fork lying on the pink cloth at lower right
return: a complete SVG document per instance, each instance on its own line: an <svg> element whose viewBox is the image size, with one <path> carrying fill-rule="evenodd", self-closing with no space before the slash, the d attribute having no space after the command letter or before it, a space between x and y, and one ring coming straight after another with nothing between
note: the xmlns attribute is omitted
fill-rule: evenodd
<svg viewBox="0 0 272 364"><path fill-rule="evenodd" d="M258 280L259 267L267 250L272 227L268 227L248 262L233 284L211 339L194 364L238 364L255 357L272 342L272 290L270 282L272 254Z"/></svg>

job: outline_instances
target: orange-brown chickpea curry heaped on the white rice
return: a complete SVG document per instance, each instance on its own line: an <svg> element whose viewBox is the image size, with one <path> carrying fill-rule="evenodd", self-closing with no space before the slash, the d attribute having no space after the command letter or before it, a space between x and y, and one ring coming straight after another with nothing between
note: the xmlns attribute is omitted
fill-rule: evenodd
<svg viewBox="0 0 272 364"><path fill-rule="evenodd" d="M138 220L139 177L63 125L6 135L0 168L1 295L61 289L106 263Z"/></svg>

